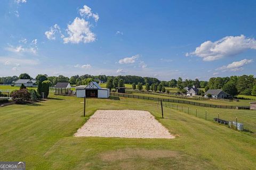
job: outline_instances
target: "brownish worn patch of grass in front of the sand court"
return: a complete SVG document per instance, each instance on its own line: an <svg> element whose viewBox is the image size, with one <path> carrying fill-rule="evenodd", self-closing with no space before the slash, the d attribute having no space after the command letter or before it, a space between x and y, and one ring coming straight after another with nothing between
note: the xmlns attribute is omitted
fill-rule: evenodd
<svg viewBox="0 0 256 170"><path fill-rule="evenodd" d="M125 160L129 158L156 159L166 157L177 157L179 152L170 150L146 150L146 149L119 149L115 151L105 152L99 155L101 160L105 162L115 162L117 160Z"/></svg>

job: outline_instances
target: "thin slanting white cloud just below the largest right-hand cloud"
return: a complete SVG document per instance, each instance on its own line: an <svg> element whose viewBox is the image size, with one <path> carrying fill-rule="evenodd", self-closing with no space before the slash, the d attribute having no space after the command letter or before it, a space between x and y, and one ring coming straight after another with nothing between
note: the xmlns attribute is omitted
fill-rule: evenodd
<svg viewBox="0 0 256 170"><path fill-rule="evenodd" d="M242 71L243 66L245 64L252 63L252 61L253 60L244 59L244 60L241 60L241 61L238 61L238 62L230 63L228 65L223 65L222 67L219 67L216 70L222 70L222 72L225 72L225 71Z"/></svg>

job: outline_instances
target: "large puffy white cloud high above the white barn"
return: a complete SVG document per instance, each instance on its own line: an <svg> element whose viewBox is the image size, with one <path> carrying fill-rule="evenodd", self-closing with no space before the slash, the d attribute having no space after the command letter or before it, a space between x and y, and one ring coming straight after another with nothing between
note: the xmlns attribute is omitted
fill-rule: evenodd
<svg viewBox="0 0 256 170"><path fill-rule="evenodd" d="M90 30L89 22L78 17L71 24L68 24L67 32L69 37L63 38L65 44L91 43L96 39L94 33Z"/></svg>

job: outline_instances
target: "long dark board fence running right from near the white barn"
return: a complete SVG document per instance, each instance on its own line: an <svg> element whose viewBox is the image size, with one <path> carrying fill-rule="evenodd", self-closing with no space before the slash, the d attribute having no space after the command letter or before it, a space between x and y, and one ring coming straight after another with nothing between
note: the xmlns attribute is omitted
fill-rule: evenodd
<svg viewBox="0 0 256 170"><path fill-rule="evenodd" d="M212 105L212 104L198 103L198 102L195 102L195 101L188 101L188 100L167 99L167 98L140 96L140 95L132 95L132 94L118 94L116 92L110 92L110 95L111 96L118 96L118 97L156 100L156 101L161 101L162 100L162 101L171 102L171 103L180 103L180 104L188 104L188 105L201 106L201 107L211 107L211 108L236 109L237 107L239 107L239 108L248 108L249 107L249 106Z"/></svg>

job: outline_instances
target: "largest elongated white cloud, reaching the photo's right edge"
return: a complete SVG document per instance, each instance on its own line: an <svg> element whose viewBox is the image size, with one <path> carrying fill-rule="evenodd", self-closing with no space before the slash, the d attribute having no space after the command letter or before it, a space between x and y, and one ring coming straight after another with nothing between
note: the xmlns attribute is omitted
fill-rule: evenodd
<svg viewBox="0 0 256 170"><path fill-rule="evenodd" d="M247 49L256 49L256 40L241 36L227 36L215 42L205 41L194 52L186 53L186 56L198 56L203 61L219 60L223 57L235 56Z"/></svg>

